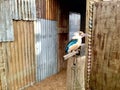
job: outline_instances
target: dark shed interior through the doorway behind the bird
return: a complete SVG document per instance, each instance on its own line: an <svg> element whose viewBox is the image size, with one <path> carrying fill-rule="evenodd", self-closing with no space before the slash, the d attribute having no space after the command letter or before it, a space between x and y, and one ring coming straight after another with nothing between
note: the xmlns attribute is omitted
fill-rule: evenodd
<svg viewBox="0 0 120 90"><path fill-rule="evenodd" d="M69 15L71 12L79 13L81 15L80 19L80 29L85 32L85 23L86 23L86 0L56 0L59 6L59 20L58 20L58 68L62 70L66 68L67 63L64 61L63 56L65 55L64 49L65 45L68 42L69 32ZM83 38L83 43L85 38ZM63 43L61 45L61 43Z"/></svg>

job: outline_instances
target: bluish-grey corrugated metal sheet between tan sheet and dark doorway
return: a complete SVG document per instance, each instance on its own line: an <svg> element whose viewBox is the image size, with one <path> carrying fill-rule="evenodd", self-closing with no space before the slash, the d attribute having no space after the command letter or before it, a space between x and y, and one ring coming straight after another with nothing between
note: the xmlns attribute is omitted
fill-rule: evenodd
<svg viewBox="0 0 120 90"><path fill-rule="evenodd" d="M41 81L57 73L57 30L56 21L36 21L36 80Z"/></svg>

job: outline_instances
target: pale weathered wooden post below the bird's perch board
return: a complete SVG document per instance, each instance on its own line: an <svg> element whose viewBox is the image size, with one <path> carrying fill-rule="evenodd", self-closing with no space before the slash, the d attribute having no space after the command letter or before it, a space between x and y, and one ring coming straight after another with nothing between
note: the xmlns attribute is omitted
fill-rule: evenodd
<svg viewBox="0 0 120 90"><path fill-rule="evenodd" d="M74 59L75 57L71 57L67 61L67 90L85 90L85 56L77 57L76 66L73 65ZM75 73L74 69L76 69Z"/></svg>

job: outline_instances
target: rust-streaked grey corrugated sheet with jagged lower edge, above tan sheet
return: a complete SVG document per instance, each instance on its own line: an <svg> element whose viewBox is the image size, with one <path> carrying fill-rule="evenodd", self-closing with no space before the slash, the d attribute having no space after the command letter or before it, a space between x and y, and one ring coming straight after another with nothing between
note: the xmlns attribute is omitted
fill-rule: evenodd
<svg viewBox="0 0 120 90"><path fill-rule="evenodd" d="M11 0L12 17L15 20L36 20L35 0Z"/></svg>

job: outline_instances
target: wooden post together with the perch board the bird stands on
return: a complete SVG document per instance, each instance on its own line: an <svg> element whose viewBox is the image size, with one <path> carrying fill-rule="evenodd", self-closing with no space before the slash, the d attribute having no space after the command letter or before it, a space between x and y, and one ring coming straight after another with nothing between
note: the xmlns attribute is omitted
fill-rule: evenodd
<svg viewBox="0 0 120 90"><path fill-rule="evenodd" d="M77 52L65 56L65 59L67 58L67 90L85 90L85 45L81 47L80 55L75 53Z"/></svg>

